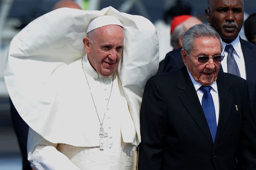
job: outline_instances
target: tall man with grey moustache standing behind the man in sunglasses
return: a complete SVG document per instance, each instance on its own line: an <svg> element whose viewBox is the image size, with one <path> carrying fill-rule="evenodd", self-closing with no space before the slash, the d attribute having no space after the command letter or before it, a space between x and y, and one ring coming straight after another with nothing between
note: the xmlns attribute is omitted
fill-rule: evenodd
<svg viewBox="0 0 256 170"><path fill-rule="evenodd" d="M220 71L246 79L251 97L256 83L256 46L238 36L243 26L243 0L208 0L206 19L222 38L225 57ZM177 51L167 53L165 60L164 72L182 67Z"/></svg>

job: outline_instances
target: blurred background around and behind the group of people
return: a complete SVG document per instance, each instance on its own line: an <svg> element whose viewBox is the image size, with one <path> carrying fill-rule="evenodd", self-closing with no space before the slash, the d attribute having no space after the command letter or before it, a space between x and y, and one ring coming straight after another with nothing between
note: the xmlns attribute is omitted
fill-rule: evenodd
<svg viewBox="0 0 256 170"><path fill-rule="evenodd" d="M58 1L0 0L0 170L22 169L18 141L10 116L9 96L3 78L9 44L21 29L37 17L51 11ZM191 14L206 23L204 10L207 8L207 0L74 0L74 2L83 10L100 10L113 6L121 12L148 18L158 32L159 60L163 60L166 53L172 50L170 22L173 16ZM245 0L245 19L255 13L255 9L255 0ZM243 29L240 36L246 40Z"/></svg>

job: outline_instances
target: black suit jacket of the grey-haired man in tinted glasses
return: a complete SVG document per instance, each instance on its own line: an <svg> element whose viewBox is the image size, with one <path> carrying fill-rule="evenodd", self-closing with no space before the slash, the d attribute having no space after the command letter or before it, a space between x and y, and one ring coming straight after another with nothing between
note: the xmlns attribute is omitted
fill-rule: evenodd
<svg viewBox="0 0 256 170"><path fill-rule="evenodd" d="M256 126L247 83L219 73L217 87L213 143L186 67L148 80L140 113L139 170L256 170Z"/></svg>

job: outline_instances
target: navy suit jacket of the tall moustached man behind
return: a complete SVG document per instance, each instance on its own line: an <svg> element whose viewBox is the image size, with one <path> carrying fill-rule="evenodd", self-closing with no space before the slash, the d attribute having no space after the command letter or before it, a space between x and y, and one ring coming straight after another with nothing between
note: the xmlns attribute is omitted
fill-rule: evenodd
<svg viewBox="0 0 256 170"><path fill-rule="evenodd" d="M254 86L256 84L256 46L248 41L240 38L241 48L243 51L243 57L245 59L245 71L246 71L246 80L249 87L249 94L252 97ZM169 72L179 70L184 66L180 50L176 49L170 51L166 54L166 57L159 64L160 70L158 73ZM223 72L222 67L220 71Z"/></svg>

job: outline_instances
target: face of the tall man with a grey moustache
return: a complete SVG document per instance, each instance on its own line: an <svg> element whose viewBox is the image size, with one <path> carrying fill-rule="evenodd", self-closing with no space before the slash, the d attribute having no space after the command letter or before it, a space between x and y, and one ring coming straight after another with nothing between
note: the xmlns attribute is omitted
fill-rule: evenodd
<svg viewBox="0 0 256 170"><path fill-rule="evenodd" d="M226 43L231 43L243 26L243 0L211 0L206 19Z"/></svg>

